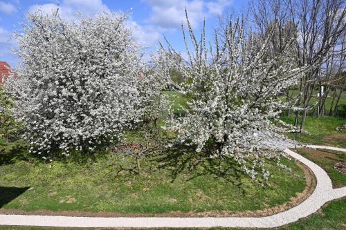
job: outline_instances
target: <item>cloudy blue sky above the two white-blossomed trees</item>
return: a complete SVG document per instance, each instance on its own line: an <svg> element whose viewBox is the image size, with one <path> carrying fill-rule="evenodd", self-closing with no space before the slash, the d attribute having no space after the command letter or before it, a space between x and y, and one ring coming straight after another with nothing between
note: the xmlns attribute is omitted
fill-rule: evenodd
<svg viewBox="0 0 346 230"><path fill-rule="evenodd" d="M46 12L59 7L64 18L71 18L75 12L90 15L102 10L131 12L129 23L135 28L134 36L142 45L154 48L163 35L176 50L183 51L181 22L184 21L184 7L188 9L194 30L201 29L206 19L207 36L217 26L219 15L233 12L239 14L248 6L248 1L239 0L60 0L60 1L21 1L0 0L0 61L8 61L15 66L17 57L12 55L11 47L16 46L12 39L13 30L21 28L26 13L41 8Z"/></svg>

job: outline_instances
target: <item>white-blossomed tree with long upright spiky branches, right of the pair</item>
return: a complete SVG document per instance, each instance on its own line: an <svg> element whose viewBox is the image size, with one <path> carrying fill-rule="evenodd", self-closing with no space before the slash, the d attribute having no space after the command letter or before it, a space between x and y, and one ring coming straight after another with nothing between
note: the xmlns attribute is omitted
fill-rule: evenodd
<svg viewBox="0 0 346 230"><path fill-rule="evenodd" d="M186 15L187 16L187 15ZM209 157L233 160L253 179L268 179L265 157L275 157L277 145L265 144L264 138L284 139L278 132L290 131L280 123L282 109L290 106L278 95L298 83L306 68L295 68L286 39L282 52L268 55L268 42L245 36L244 23L228 21L215 43L206 46L204 30L197 41L190 22L188 29L194 48L190 51L183 30L189 60L185 64L171 59L186 81L180 92L188 98L184 117L172 120L172 128L181 143L196 146ZM256 49L255 42L260 42ZM168 44L167 52L176 57Z"/></svg>

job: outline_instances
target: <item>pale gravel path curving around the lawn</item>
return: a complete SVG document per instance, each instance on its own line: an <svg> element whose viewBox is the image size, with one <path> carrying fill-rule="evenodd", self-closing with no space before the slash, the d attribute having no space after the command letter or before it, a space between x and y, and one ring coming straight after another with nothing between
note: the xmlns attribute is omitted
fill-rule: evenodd
<svg viewBox="0 0 346 230"><path fill-rule="evenodd" d="M307 146L346 152L345 148ZM316 189L298 206L261 218L96 218L50 215L0 215L0 224L47 227L257 227L271 228L295 222L315 213L323 204L346 196L346 186L333 189L327 173L317 164L288 148L284 152L305 164L315 174Z"/></svg>

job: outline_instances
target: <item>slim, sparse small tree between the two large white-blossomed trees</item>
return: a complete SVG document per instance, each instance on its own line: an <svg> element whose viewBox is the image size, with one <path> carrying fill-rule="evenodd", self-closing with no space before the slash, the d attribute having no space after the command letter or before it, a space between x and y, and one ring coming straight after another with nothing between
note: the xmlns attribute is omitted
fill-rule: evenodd
<svg viewBox="0 0 346 230"><path fill-rule="evenodd" d="M167 95L163 93L171 82L166 59L165 50L160 49L157 55L152 54L150 62L141 64L138 73L138 111L141 116L135 131L144 136L144 143L135 154L138 174L141 174L140 158L161 151L165 142L158 121L167 115L170 107Z"/></svg>

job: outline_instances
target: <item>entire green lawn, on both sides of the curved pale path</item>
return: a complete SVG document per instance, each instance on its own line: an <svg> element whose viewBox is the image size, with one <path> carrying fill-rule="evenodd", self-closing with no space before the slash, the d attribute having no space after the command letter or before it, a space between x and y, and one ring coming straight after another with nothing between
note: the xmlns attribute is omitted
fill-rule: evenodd
<svg viewBox="0 0 346 230"><path fill-rule="evenodd" d="M164 93L172 102L174 113L183 115L180 106L186 106L185 99L176 92ZM293 117L282 119L293 124ZM309 133L291 133L289 137L308 144L346 147L346 133L335 130L341 124L345 124L345 119L307 117ZM127 133L126 137L127 141L138 142L136 133ZM242 175L233 164L226 163L225 170L220 171L215 160L204 159L190 170L198 156L185 150L149 155L141 160L143 175L139 176L136 160L125 153L104 151L82 162L45 162L26 156L22 148L17 151L15 146L7 147L15 156L12 160L0 154L2 210L77 211L115 216L229 215L284 204L306 186L300 166L287 159L282 162L293 173L279 169L275 162L267 162L272 176L268 186L261 186ZM335 187L345 186L345 175L332 169L336 161L345 160L345 155L326 153L316 157L309 151L299 153L322 166ZM345 204L346 199L331 202L321 213L286 229L342 229Z"/></svg>

